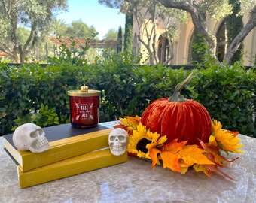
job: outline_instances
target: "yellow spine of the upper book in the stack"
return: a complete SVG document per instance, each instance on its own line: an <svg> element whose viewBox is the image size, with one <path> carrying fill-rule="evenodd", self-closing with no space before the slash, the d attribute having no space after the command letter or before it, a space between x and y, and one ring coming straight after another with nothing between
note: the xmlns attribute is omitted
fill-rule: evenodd
<svg viewBox="0 0 256 203"><path fill-rule="evenodd" d="M108 134L110 131L111 129L105 129L99 132L93 132L92 135L97 134L97 136L90 138L90 135L88 135L87 138L81 138L78 141L50 147L50 150L43 153L25 153L22 155L22 171L30 171L44 165L49 165L83 153L108 147Z"/></svg>

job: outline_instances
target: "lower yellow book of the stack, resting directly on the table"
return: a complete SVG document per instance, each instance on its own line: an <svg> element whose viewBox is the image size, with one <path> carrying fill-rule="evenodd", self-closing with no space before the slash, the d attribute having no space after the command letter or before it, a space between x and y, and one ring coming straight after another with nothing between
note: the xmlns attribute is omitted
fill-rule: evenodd
<svg viewBox="0 0 256 203"><path fill-rule="evenodd" d="M18 178L21 188L47 183L63 177L117 165L127 161L127 153L121 156L111 154L109 148L96 150L75 156L70 159L36 168L32 171L23 172L20 165L17 166Z"/></svg>

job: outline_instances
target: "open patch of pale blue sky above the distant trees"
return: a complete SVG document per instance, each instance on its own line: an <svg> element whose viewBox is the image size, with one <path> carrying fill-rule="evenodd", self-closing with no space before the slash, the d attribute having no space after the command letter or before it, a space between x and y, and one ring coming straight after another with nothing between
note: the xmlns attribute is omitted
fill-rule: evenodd
<svg viewBox="0 0 256 203"><path fill-rule="evenodd" d="M62 11L57 19L63 20L66 24L74 20L82 20L87 26L93 26L98 37L102 39L109 29L118 31L121 26L124 29L125 14L120 13L119 9L108 8L99 5L98 0L67 0L68 11Z"/></svg>

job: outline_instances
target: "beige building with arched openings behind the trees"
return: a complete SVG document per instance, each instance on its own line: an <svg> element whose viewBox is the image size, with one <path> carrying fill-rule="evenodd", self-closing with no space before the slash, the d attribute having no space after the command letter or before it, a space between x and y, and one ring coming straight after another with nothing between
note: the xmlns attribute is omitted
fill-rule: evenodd
<svg viewBox="0 0 256 203"><path fill-rule="evenodd" d="M170 60L169 65L191 65L192 64L192 56L191 56L191 39L194 38L194 24L192 23L190 14L188 15L187 23L179 23L179 35L175 41L169 43L169 40L163 35L166 32L166 24L165 22L157 23L157 43L155 44L155 50L157 52L157 56L159 58L159 62L164 64L166 60L169 59L170 54L173 53L173 58ZM144 59L147 59L148 52L146 51L146 47L142 44L141 41L138 40L139 33L142 30L139 30L138 22L136 18L133 18L133 53L142 53ZM242 18L242 23L245 25L248 22L248 17ZM150 24L148 26L151 26ZM216 22L207 19L207 28L208 31L215 35L216 37L216 56L218 60L221 62L224 53L227 50L227 31L225 28L224 18L220 21ZM143 35L142 35L143 36ZM144 37L146 37L144 35ZM172 44L170 49L169 45ZM256 65L256 28L254 28L243 41L242 47L242 59L243 65L252 66Z"/></svg>

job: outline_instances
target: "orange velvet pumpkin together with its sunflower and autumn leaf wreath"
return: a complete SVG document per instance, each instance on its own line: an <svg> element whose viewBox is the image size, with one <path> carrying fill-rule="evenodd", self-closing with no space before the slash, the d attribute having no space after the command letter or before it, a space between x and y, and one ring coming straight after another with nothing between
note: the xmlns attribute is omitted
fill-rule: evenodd
<svg viewBox="0 0 256 203"><path fill-rule="evenodd" d="M216 172L234 180L219 168L239 159L228 160L221 155L221 151L227 155L242 153L239 149L243 145L236 136L239 132L221 129L221 123L211 120L203 105L181 95L191 78L192 74L178 83L170 98L151 102L142 117L120 118L114 128L125 129L130 135L128 154L151 159L152 168L163 165L181 174L194 168L207 176Z"/></svg>

